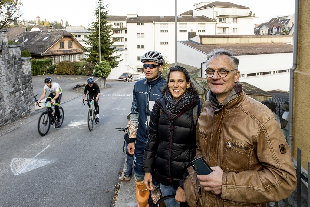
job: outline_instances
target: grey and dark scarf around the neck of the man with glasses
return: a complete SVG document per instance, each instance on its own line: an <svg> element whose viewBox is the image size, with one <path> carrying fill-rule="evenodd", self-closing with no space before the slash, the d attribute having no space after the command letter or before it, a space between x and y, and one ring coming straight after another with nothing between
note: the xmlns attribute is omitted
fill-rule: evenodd
<svg viewBox="0 0 310 207"><path fill-rule="evenodd" d="M226 104L228 101L239 96L241 91L242 91L242 85L240 81L238 81L237 83L235 83L235 86L233 87L231 92L228 94L228 96L224 99L223 103L220 103L216 99L216 96L214 95L214 93L211 92L210 90L207 94L207 99L212 106L215 106L216 108L220 108L222 105Z"/></svg>

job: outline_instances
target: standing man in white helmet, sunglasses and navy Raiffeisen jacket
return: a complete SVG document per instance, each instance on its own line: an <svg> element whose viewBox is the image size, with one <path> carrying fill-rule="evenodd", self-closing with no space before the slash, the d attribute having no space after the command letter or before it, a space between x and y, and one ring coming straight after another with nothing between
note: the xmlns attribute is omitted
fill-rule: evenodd
<svg viewBox="0 0 310 207"><path fill-rule="evenodd" d="M142 57L146 78L135 83L132 94L130 134L128 152L134 155L134 172L137 206L148 206L149 191L144 185L143 155L148 137L148 123L155 100L161 97L165 81L160 72L165 65L164 56L157 51L148 51ZM156 178L156 176L153 176ZM155 185L154 185L155 184ZM159 199L159 182L153 180L155 190L151 194L154 201ZM157 194L158 192L158 194Z"/></svg>

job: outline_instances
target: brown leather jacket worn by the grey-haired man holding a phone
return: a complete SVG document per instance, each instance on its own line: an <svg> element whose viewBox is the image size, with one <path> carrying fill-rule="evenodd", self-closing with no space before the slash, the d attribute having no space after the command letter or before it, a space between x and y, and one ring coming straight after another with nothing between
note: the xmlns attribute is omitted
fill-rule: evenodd
<svg viewBox="0 0 310 207"><path fill-rule="evenodd" d="M297 185L290 149L272 111L240 95L220 109L205 101L196 130L197 157L223 172L222 194L200 186L188 168L184 183L189 206L266 206L287 198Z"/></svg>

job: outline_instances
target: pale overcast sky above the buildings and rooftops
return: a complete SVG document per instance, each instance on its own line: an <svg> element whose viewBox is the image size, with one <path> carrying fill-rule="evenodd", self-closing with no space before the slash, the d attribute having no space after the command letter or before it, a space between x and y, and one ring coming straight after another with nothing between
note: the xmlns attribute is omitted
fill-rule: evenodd
<svg viewBox="0 0 310 207"><path fill-rule="evenodd" d="M35 2L33 0L22 0L24 13L23 19L35 20L37 15L42 20L49 22L64 20L71 26L88 27L90 21L94 21L94 7L96 0L53 0L48 4ZM194 3L213 2L197 0L178 0L177 15L193 10ZM250 7L252 13L255 13L255 24L266 22L277 16L287 16L294 14L294 0L228 0L241 6ZM126 16L127 14L138 14L139 16L175 16L175 0L107 0L109 15Z"/></svg>

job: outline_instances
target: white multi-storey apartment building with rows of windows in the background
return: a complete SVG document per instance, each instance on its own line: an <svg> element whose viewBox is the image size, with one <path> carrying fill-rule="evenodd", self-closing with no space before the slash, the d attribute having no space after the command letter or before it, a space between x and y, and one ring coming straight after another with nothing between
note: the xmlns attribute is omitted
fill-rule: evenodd
<svg viewBox="0 0 310 207"><path fill-rule="evenodd" d="M248 9L229 2L197 3L193 10L177 17L177 40L187 40L196 34L253 35L255 17L248 16ZM161 52L169 63L175 62L175 16L133 14L110 16L108 21L113 27L113 45L129 50L128 68L134 74L143 71L141 56L149 50Z"/></svg>

